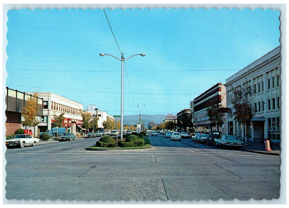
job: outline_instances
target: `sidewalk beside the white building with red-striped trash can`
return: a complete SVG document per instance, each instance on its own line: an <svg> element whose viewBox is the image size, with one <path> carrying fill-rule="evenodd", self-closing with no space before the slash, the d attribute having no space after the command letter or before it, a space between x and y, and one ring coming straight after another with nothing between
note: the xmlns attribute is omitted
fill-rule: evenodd
<svg viewBox="0 0 289 208"><path fill-rule="evenodd" d="M280 154L279 144L270 144L270 148L272 151L266 151L265 143L263 142L247 142L246 146L241 147L241 149L244 149L246 151L256 152L260 154L266 154L266 155L279 155Z"/></svg>

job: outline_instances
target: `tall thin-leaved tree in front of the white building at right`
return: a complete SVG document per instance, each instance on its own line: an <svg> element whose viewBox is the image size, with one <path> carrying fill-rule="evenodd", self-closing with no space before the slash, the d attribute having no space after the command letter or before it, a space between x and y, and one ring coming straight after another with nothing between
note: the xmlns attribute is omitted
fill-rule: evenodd
<svg viewBox="0 0 289 208"><path fill-rule="evenodd" d="M233 88L232 104L235 112L232 115L235 116L235 120L245 126L245 145L247 144L247 126L250 125L251 119L255 115L252 104L254 93L254 86Z"/></svg>

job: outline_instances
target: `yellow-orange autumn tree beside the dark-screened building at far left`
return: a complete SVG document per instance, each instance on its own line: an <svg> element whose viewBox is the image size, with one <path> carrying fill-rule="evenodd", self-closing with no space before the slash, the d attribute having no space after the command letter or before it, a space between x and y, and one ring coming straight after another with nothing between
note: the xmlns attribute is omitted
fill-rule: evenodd
<svg viewBox="0 0 289 208"><path fill-rule="evenodd" d="M23 108L22 114L23 121L21 122L23 126L37 126L39 121L37 120L37 93L34 93L29 100L26 101Z"/></svg>

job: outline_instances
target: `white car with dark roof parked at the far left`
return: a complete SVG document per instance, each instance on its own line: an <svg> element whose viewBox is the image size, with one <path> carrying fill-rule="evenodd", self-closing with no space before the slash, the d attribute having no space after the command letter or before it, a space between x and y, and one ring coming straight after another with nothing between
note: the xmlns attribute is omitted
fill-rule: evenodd
<svg viewBox="0 0 289 208"><path fill-rule="evenodd" d="M12 146L20 146L23 148L27 145L35 146L37 142L39 142L39 138L32 137L29 134L18 134L14 135L11 139L7 139L5 145L7 148Z"/></svg>

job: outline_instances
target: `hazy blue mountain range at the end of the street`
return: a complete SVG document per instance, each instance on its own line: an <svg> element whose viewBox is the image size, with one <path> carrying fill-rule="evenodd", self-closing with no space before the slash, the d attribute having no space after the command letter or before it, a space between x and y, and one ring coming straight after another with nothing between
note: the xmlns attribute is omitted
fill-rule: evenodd
<svg viewBox="0 0 289 208"><path fill-rule="evenodd" d="M166 115L157 114L157 115L146 115L142 114L141 119L144 125L147 127L149 122L154 122L155 124L160 124L165 120ZM120 120L120 118L118 118ZM124 125L136 125L138 123L138 115L132 115L132 116L124 116L123 117L123 123Z"/></svg>

